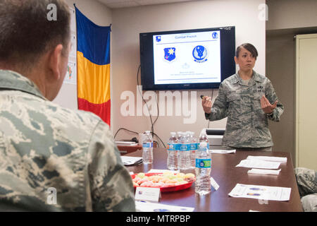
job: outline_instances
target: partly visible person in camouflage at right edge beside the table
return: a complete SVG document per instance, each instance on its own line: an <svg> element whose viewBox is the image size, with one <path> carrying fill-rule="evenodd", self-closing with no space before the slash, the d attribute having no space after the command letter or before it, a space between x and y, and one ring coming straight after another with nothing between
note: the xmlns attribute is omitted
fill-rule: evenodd
<svg viewBox="0 0 317 226"><path fill-rule="evenodd" d="M304 211L317 212L317 172L299 167L295 176Z"/></svg>

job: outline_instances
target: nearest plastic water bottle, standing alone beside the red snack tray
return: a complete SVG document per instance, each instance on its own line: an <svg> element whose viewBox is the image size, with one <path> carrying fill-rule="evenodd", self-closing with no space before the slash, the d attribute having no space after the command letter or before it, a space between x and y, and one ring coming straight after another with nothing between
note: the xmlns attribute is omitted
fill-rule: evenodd
<svg viewBox="0 0 317 226"><path fill-rule="evenodd" d="M211 153L207 147L208 143L199 143L199 148L196 152L195 192L199 195L206 195L211 192Z"/></svg>

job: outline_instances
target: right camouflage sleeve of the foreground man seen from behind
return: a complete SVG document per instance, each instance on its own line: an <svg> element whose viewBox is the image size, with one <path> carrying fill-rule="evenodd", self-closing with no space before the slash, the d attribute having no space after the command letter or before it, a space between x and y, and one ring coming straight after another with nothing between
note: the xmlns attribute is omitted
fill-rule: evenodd
<svg viewBox="0 0 317 226"><path fill-rule="evenodd" d="M135 211L131 176L103 121L92 134L88 158L92 211Z"/></svg>

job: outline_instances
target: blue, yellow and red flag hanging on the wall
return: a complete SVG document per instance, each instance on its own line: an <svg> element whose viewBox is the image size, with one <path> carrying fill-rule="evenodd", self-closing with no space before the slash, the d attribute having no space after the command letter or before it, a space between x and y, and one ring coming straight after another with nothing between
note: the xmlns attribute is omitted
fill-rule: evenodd
<svg viewBox="0 0 317 226"><path fill-rule="evenodd" d="M75 9L78 109L97 114L110 126L111 27L96 25Z"/></svg>

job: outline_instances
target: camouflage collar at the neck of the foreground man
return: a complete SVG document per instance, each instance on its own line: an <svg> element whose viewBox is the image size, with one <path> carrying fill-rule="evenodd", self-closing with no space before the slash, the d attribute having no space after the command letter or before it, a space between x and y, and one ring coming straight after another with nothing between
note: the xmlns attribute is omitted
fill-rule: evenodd
<svg viewBox="0 0 317 226"><path fill-rule="evenodd" d="M0 70L0 90L20 90L46 100L35 83L15 71Z"/></svg>

